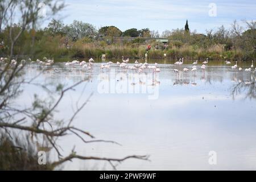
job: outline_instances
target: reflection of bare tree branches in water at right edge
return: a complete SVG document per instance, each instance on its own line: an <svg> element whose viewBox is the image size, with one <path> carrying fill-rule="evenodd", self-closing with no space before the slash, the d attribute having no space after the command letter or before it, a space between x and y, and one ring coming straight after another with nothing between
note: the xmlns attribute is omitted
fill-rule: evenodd
<svg viewBox="0 0 256 182"><path fill-rule="evenodd" d="M235 98L238 94L245 93L246 98L255 99L256 98L256 82L255 75L251 75L249 80L239 79L238 84L232 88L232 96Z"/></svg>

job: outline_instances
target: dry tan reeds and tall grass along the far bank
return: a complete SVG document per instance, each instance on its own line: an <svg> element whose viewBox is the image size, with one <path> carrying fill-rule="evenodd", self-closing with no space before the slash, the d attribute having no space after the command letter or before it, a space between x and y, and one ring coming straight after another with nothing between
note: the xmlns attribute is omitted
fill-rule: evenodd
<svg viewBox="0 0 256 182"><path fill-rule="evenodd" d="M46 38L41 40L35 48L35 55L39 57L70 57L70 58L90 58L99 59L102 54L105 54L109 59L118 59L122 56L130 57L131 59L142 59L145 57L146 44L111 44L105 42L84 42L77 41L72 44L72 47L67 49L63 44L60 44L58 38ZM166 57L164 57L166 53ZM245 52L240 49L225 51L223 46L213 45L208 48L203 48L196 45L179 44L175 42L166 50L148 51L148 59L197 59L203 60L207 57L211 60L246 60L255 57L255 53Z"/></svg>

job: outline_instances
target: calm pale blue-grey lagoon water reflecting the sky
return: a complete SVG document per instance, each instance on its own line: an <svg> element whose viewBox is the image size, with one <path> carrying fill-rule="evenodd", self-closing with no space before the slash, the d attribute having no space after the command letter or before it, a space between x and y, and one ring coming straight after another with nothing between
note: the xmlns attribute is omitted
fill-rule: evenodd
<svg viewBox="0 0 256 182"><path fill-rule="evenodd" d="M254 72L233 71L223 61L210 64L205 73L198 66L195 74L179 75L173 71L174 64L160 64L160 73L147 71L140 75L133 71L122 73L117 65L102 71L100 64L95 63L90 72L65 67L64 63L48 68L26 66L27 79L42 72L35 80L40 83L68 86L89 78L67 93L56 117L70 118L76 106L93 93L74 125L96 139L122 144L85 144L69 135L59 141L63 154L68 155L76 146L80 155L150 155L150 162L126 160L118 165L119 170L256 169ZM192 65L184 67L191 69ZM43 90L27 86L19 104L29 105L35 93L46 97ZM217 165L209 165L209 151L216 151ZM106 162L73 160L65 163L63 169L112 167Z"/></svg>

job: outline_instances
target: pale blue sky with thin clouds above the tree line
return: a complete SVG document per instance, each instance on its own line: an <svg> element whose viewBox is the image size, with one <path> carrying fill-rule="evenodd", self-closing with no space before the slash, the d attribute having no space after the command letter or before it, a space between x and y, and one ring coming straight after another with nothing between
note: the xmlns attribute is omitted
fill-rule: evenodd
<svg viewBox="0 0 256 182"><path fill-rule="evenodd" d="M190 30L205 32L222 24L230 27L234 19L256 20L256 1L170 1L170 0L66 0L67 7L59 13L64 23L74 19L101 26L164 30L184 28L188 19ZM210 3L217 5L217 16L210 17Z"/></svg>

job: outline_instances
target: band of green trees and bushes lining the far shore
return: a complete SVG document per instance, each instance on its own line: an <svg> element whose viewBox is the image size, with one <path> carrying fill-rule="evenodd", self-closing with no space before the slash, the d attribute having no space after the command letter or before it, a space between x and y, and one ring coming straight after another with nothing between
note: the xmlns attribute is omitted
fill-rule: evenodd
<svg viewBox="0 0 256 182"><path fill-rule="evenodd" d="M207 29L204 34L199 34L196 31L189 29L188 20L185 22L184 28L177 28L173 30L165 30L160 35L158 31L150 30L149 28L130 28L122 31L115 26L105 26L96 28L93 24L84 23L78 20L74 20L71 24L64 24L61 20L52 19L46 28L27 28L20 35L20 39L16 42L14 47L14 53L20 55L30 55L38 53L42 55L47 53L51 56L59 55L72 55L72 56L100 56L102 52L105 52L106 46L116 44L113 37L132 37L137 38L133 40L122 39L123 46L130 46L130 48L137 48L146 46L146 38L168 38L168 49L183 48L189 49L188 55L200 56L202 50L208 52L208 56L219 57L225 52L226 57L234 59L253 59L256 57L256 31L255 21L243 21L243 25L239 24L236 20L232 23L231 28L225 28L224 26L218 27L216 30ZM12 27L6 26L1 28L0 42L5 42L5 47L0 47L0 54L5 55L9 53L11 47L11 39L9 39L10 29L13 32L19 32L22 30L20 24L13 24ZM32 36L32 37L31 37ZM32 40L32 43L31 43ZM92 44L89 46L89 44ZM155 43L151 43L154 46ZM34 46L33 51L29 52L30 47ZM63 48L70 48L75 46L69 52ZM82 46L88 45L90 49L97 49L101 51L88 51L85 53ZM159 44L163 47L162 44ZM45 47L52 47L46 51ZM188 48L189 47L189 48ZM59 50L57 50L59 48ZM78 48L78 49L77 49ZM141 48L141 47L140 47ZM161 48L162 49L162 48ZM42 50L45 50L43 52ZM101 52L101 53L100 53ZM109 51L111 52L111 51ZM135 55L138 55L138 51L133 51ZM195 53L196 52L196 53ZM210 53L212 52L212 53ZM118 55L119 53L109 53L109 55ZM176 55L170 53L170 56ZM144 55L144 53L139 53ZM205 57L205 56L203 56Z"/></svg>

